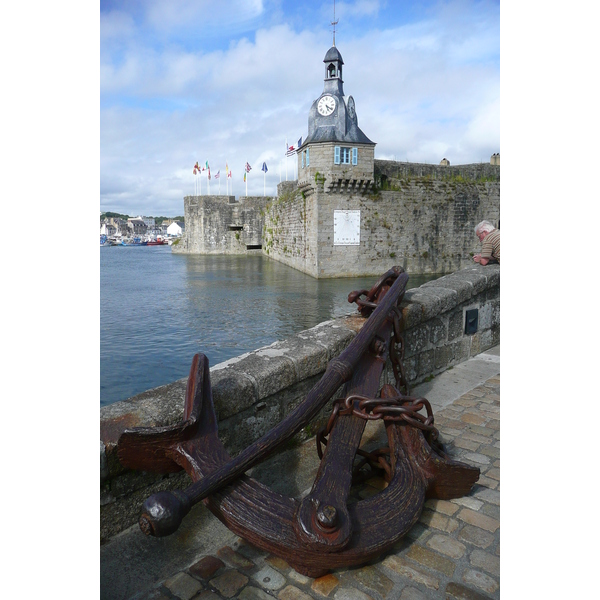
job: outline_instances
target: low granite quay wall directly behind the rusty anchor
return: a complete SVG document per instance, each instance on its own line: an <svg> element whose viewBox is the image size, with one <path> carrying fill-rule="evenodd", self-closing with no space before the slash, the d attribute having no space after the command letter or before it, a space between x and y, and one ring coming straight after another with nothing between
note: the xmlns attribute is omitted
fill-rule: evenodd
<svg viewBox="0 0 600 600"><path fill-rule="evenodd" d="M500 267L473 264L408 290L401 309L405 372L415 385L500 343ZM466 334L466 311L471 309L478 310L478 328ZM327 362L348 346L364 322L357 313L337 318L213 366L219 437L227 451L235 456L296 408L321 378ZM382 383L393 381L388 363ZM135 524L151 494L191 483L184 472L164 476L127 470L116 454L116 442L125 429L180 422L185 388L186 380L181 379L101 408L102 540ZM330 411L328 403L296 441L315 435Z"/></svg>

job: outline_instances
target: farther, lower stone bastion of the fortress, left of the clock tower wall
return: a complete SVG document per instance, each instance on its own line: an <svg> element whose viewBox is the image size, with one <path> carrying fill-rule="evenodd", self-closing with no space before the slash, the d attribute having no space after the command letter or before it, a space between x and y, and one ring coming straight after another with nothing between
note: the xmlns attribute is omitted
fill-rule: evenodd
<svg viewBox="0 0 600 600"><path fill-rule="evenodd" d="M185 234L173 252L246 254L261 249L264 208L273 198L262 196L186 196Z"/></svg>

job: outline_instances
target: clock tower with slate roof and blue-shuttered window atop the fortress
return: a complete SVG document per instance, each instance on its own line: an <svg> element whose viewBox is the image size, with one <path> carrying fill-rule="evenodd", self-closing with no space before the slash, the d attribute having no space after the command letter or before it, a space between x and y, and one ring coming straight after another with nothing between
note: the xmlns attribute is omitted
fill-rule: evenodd
<svg viewBox="0 0 600 600"><path fill-rule="evenodd" d="M344 95L344 61L334 45L323 59L323 93L308 113L308 136L298 149L298 187L312 193L366 191L373 184L375 143L358 126L352 96Z"/></svg>

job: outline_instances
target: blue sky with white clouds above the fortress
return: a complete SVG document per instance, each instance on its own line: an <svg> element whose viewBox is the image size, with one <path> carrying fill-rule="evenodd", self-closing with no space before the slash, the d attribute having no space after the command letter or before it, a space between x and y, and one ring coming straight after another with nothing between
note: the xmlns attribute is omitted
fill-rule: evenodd
<svg viewBox="0 0 600 600"><path fill-rule="evenodd" d="M376 158L500 152L497 0L336 2L335 20L344 92ZM102 0L101 210L182 215L184 196L209 191L196 161L211 194L276 195L296 178L286 144L307 135L332 21L331 0Z"/></svg>

